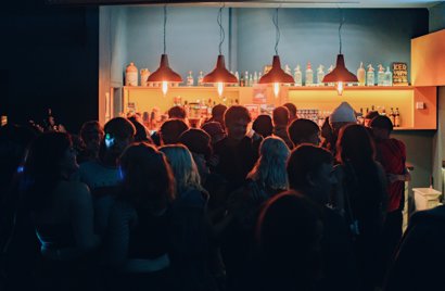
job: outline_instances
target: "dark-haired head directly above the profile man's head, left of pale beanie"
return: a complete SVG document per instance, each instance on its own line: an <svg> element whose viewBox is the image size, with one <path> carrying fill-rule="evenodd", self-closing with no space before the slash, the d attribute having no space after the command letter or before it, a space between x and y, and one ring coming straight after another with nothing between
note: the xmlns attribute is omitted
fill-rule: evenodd
<svg viewBox="0 0 445 291"><path fill-rule="evenodd" d="M295 148L302 143L319 146L321 142L320 128L310 119L300 118L293 121L288 127L288 134Z"/></svg>

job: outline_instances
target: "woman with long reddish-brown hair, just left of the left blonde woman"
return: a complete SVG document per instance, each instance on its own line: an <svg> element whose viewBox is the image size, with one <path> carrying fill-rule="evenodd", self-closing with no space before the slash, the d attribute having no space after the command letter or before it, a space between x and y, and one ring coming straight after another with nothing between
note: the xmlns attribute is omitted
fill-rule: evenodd
<svg viewBox="0 0 445 291"><path fill-rule="evenodd" d="M112 290L169 290L169 208L173 172L163 153L147 143L125 150L122 189L110 215L105 262Z"/></svg>

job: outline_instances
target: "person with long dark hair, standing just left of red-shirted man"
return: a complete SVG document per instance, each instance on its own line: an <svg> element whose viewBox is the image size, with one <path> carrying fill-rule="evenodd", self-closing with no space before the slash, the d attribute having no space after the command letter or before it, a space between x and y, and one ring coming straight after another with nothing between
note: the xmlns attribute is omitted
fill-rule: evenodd
<svg viewBox="0 0 445 291"><path fill-rule="evenodd" d="M384 170L374 160L374 144L366 127L347 125L340 130L338 160L344 215L354 236L358 275L363 290L373 290L380 284L387 193Z"/></svg>

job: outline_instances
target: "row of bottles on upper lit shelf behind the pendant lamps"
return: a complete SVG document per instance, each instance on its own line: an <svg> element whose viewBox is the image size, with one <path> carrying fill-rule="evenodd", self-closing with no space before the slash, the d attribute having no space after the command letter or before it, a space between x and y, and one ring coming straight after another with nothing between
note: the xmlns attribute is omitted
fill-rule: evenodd
<svg viewBox="0 0 445 291"><path fill-rule="evenodd" d="M359 86L393 86L393 73L390 69L390 66L385 67L382 64L379 64L378 66L378 72L377 72L377 83L376 83L376 69L372 67L371 64L368 64L367 71L364 67L364 63L360 63L359 68L357 69L357 79L358 83L357 85ZM327 74L331 73L334 67L331 65L328 68ZM289 75L292 75L294 78L294 84L293 86L333 86L333 84L325 84L322 79L325 78L325 66L319 65L316 69L316 73L314 73L313 67L310 62L307 63L305 74L304 74L304 83L303 83L303 72L301 69L300 65L296 65L296 67L293 71L293 74L291 72L291 68L289 65L284 66L284 72ZM231 72L232 73L232 72ZM140 71L140 85L141 86L155 86L153 84L148 84L148 78L150 76L150 71L148 68L142 68ZM232 73L233 74L233 73ZM125 75L125 85L126 86L138 86L138 68L134 63L130 63L127 66L126 69L126 75ZM234 76L238 79L238 86L240 87L252 87L256 85L262 73L260 72L254 72L254 73L249 73L247 71L244 74L240 74L238 72L234 72ZM193 72L189 71L186 79L186 86L192 87L192 86L204 86L203 84L204 79L204 73L201 71L198 75L198 78L193 76ZM155 86L156 87L156 86Z"/></svg>

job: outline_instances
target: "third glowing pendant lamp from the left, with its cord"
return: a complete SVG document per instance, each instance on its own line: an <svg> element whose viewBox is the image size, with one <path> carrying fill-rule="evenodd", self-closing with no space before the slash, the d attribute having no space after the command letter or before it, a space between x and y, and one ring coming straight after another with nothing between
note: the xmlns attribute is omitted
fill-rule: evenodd
<svg viewBox="0 0 445 291"><path fill-rule="evenodd" d="M272 67L258 81L258 84L272 84L275 97L278 98L280 93L281 84L292 84L294 79L291 75L287 74L281 68L280 56L278 55L278 43L280 42L280 29L278 27L278 8L276 9L275 16L272 18L276 28L276 42L275 42L275 55L272 60Z"/></svg>

